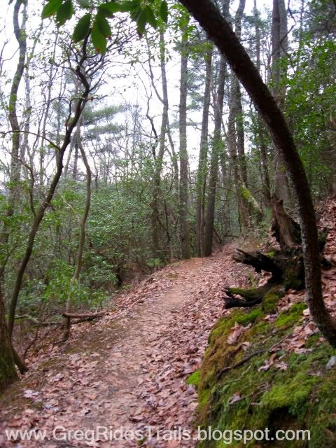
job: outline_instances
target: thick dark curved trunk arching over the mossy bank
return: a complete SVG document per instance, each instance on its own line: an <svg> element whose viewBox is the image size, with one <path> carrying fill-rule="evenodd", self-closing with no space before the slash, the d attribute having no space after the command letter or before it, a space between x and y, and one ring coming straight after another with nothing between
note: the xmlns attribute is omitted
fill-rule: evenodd
<svg viewBox="0 0 336 448"><path fill-rule="evenodd" d="M283 155L287 172L293 184L293 193L295 193L300 216L307 302L311 316L319 330L332 346L336 346L336 325L325 308L322 297L320 254L314 205L293 135L290 133L283 113L281 113L272 94L263 83L260 73L221 15L220 10L211 0L180 1L190 10L194 18L207 31L209 38L225 55L265 120L274 144Z"/></svg>

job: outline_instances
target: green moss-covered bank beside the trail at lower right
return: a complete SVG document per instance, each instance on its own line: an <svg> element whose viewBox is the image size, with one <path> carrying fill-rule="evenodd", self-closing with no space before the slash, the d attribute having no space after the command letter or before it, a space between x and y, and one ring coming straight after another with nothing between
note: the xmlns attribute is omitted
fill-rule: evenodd
<svg viewBox="0 0 336 448"><path fill-rule="evenodd" d="M269 297L269 305L273 306L274 298ZM198 393L195 425L221 431L269 428L271 434L279 429L308 429L311 439L248 444L207 440L199 442L198 447L336 447L336 372L325 368L336 351L323 342L321 335L311 335L302 353L276 351L276 360L280 358L286 370L272 365L259 371L274 344L286 337L290 340L307 307L296 303L273 319L265 319L272 306L235 310L214 325L202 366L188 378ZM235 323L248 328L237 344L228 344ZM242 349L244 342L250 343L245 344L246 351ZM239 361L243 361L241 365ZM237 366L225 370L232 365ZM240 399L232 400L235 395Z"/></svg>

